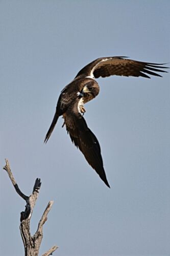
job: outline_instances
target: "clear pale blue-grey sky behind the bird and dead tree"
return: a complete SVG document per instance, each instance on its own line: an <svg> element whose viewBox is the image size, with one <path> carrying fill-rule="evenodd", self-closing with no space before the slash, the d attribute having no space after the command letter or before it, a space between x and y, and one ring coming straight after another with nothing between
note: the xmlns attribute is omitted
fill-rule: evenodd
<svg viewBox="0 0 170 256"><path fill-rule="evenodd" d="M54 255L169 255L169 74L98 79L85 119L98 137L109 189L72 145L60 118L43 144L60 91L90 61L129 56L169 62L169 8L150 1L1 1L1 169L8 158L30 195L36 230L54 200L40 252ZM25 202L0 173L1 255L23 255Z"/></svg>

